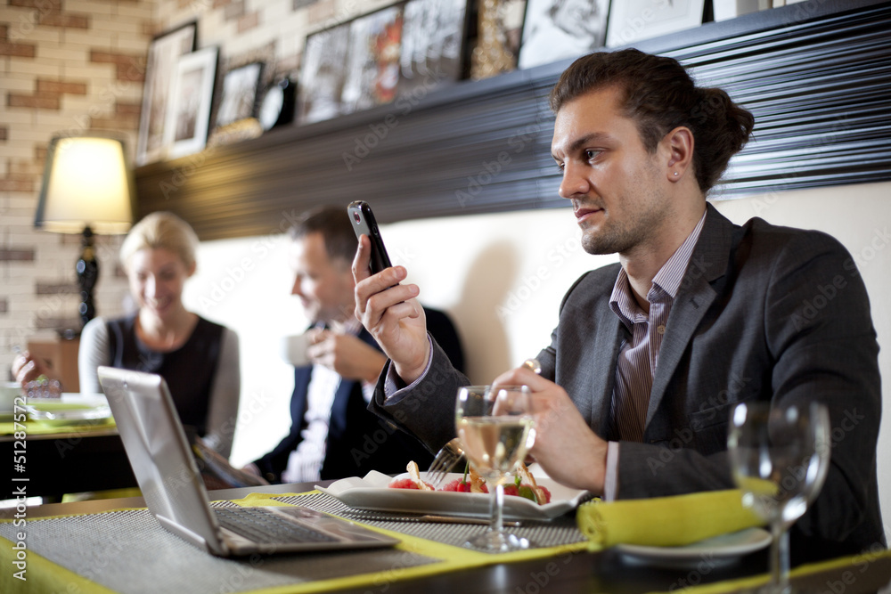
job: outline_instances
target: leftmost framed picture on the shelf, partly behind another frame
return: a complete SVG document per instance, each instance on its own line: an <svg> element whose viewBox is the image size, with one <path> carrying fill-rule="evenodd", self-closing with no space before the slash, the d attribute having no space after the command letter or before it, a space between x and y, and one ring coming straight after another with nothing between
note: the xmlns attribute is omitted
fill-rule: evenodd
<svg viewBox="0 0 891 594"><path fill-rule="evenodd" d="M167 151L164 126L170 86L180 57L195 51L198 45L198 23L192 21L154 37L145 61L143 107L139 115L136 142L136 165L163 159Z"/></svg>

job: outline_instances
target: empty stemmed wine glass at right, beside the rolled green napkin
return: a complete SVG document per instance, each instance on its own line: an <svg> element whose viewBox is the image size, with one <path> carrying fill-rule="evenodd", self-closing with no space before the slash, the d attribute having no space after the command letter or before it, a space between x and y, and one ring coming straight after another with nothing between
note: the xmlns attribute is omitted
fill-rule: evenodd
<svg viewBox="0 0 891 594"><path fill-rule="evenodd" d="M829 411L819 403L783 408L765 402L737 404L727 447L743 505L771 527L771 582L761 591L790 592L788 530L826 480Z"/></svg>

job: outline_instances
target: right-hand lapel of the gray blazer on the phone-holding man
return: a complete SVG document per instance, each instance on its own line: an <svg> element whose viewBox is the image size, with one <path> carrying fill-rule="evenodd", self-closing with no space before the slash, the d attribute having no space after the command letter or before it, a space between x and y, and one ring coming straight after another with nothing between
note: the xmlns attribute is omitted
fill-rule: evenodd
<svg viewBox="0 0 891 594"><path fill-rule="evenodd" d="M703 224L699 241L693 249L690 265L674 299L668 315L666 335L659 349L659 360L653 388L650 393L650 407L647 409L647 426L656 415L659 404L665 396L668 382L674 376L681 356L690 344L693 332L699 321L715 300L715 289L711 283L721 278L727 269L732 244L733 224L715 207L707 204L706 222Z"/></svg>

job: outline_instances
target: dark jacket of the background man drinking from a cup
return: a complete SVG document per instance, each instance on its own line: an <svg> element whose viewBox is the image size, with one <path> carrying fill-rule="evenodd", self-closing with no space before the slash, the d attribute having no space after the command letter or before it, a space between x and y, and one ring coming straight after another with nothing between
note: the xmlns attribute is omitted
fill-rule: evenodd
<svg viewBox="0 0 891 594"><path fill-rule="evenodd" d="M461 342L452 321L445 313L425 308L430 335L433 336L454 366L462 370L464 357ZM379 348L367 330L359 338ZM288 466L290 452L303 440L301 431L306 427L307 393L313 367L294 369L294 393L290 398L290 433L275 446L272 452L255 461L257 467L271 482L280 482L282 472ZM331 405L331 424L328 429L323 479L345 476L364 476L369 470L386 474L405 472L409 460L421 468L427 468L432 455L413 435L368 411L362 395L362 382L340 382Z"/></svg>

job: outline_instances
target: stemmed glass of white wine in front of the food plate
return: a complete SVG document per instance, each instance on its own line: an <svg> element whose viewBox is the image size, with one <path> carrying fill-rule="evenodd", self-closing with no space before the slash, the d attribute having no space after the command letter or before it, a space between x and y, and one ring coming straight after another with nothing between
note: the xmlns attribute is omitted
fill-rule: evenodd
<svg viewBox="0 0 891 594"><path fill-rule="evenodd" d="M505 533L502 522L504 482L535 442L531 393L526 386L465 386L458 389L455 426L464 455L486 478L492 499L492 521L486 533L465 543L486 552L507 552L532 546L525 538Z"/></svg>

